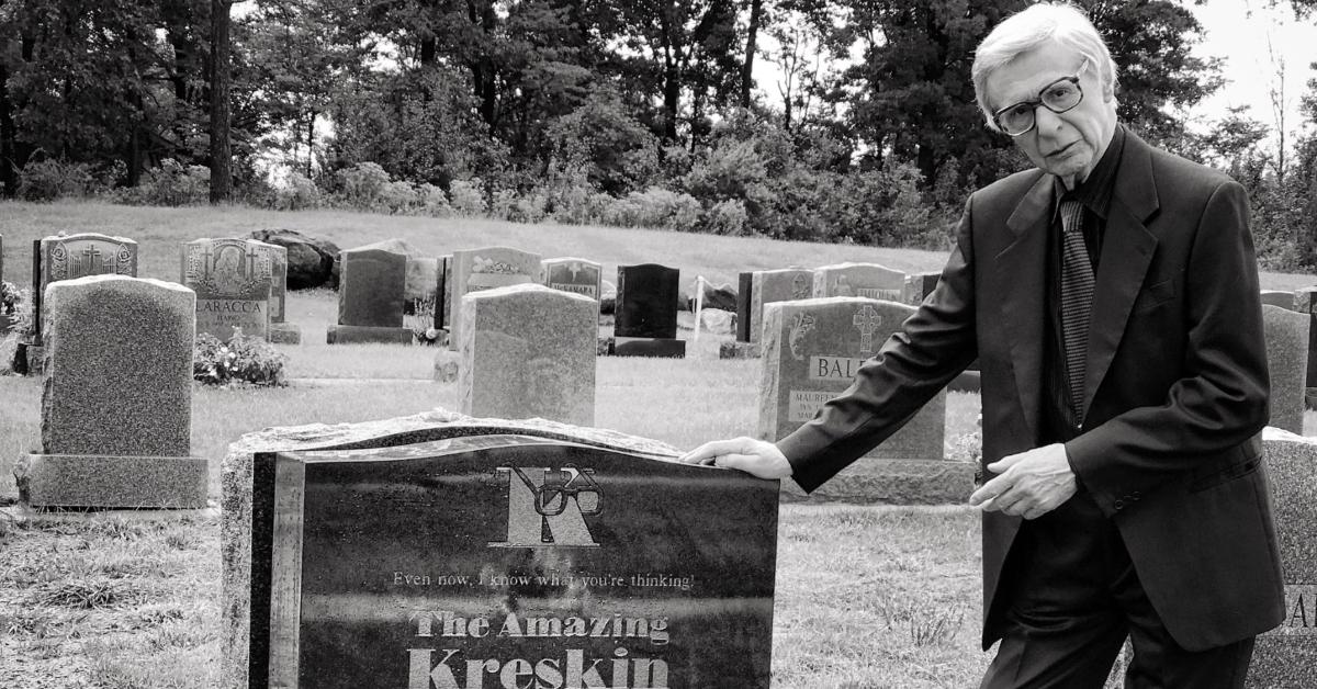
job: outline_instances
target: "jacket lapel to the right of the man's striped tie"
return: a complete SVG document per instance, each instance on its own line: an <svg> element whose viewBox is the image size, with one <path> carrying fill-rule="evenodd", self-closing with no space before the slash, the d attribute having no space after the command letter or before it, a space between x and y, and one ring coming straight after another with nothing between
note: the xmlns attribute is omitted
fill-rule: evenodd
<svg viewBox="0 0 1317 689"><path fill-rule="evenodd" d="M1152 262L1156 237L1143 225L1158 209L1151 149L1133 132L1125 133L1125 150L1115 171L1110 212L1097 266L1093 311L1088 327L1084 375L1084 414L1088 414L1102 378L1112 366L1125 333L1134 299Z"/></svg>

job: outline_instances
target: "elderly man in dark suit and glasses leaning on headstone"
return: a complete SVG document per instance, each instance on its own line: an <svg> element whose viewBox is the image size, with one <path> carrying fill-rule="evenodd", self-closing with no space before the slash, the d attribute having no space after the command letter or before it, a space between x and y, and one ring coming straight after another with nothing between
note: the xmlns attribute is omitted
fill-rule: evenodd
<svg viewBox="0 0 1317 689"><path fill-rule="evenodd" d="M975 192L936 290L818 416L687 462L813 490L976 356L982 686L1242 686L1283 615L1259 431L1267 361L1242 187L1115 121L1115 67L1068 5L979 46L989 126L1036 166Z"/></svg>

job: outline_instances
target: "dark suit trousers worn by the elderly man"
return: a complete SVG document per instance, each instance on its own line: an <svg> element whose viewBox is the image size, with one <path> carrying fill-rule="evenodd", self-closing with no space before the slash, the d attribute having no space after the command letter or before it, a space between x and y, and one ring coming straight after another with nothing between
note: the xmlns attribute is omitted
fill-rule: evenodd
<svg viewBox="0 0 1317 689"><path fill-rule="evenodd" d="M1004 574L998 603L1009 628L980 689L1101 689L1126 636L1134 647L1126 688L1243 686L1254 639L1181 648L1148 602L1119 530L1083 487L1021 524Z"/></svg>

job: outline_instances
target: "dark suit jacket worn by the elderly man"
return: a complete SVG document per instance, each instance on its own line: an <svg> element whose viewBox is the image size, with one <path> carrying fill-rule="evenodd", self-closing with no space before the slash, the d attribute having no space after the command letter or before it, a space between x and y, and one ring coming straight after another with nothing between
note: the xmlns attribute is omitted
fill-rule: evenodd
<svg viewBox="0 0 1317 689"><path fill-rule="evenodd" d="M1089 325L1087 431L1065 449L1167 630L1197 651L1284 614L1249 202L1230 178L1126 136ZM903 332L778 441L805 490L896 432L975 356L984 464L1038 447L1052 179L1029 170L969 198L938 287ZM984 514L984 648L1004 632L992 603L1019 523Z"/></svg>

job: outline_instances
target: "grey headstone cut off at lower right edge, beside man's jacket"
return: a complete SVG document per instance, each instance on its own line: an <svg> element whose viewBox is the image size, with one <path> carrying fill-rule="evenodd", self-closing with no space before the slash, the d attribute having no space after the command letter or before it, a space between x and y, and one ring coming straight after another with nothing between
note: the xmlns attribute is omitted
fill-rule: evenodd
<svg viewBox="0 0 1317 689"><path fill-rule="evenodd" d="M1301 689L1312 686L1317 668L1317 439L1267 428L1263 457L1285 581L1285 619L1258 636L1245 686Z"/></svg>

